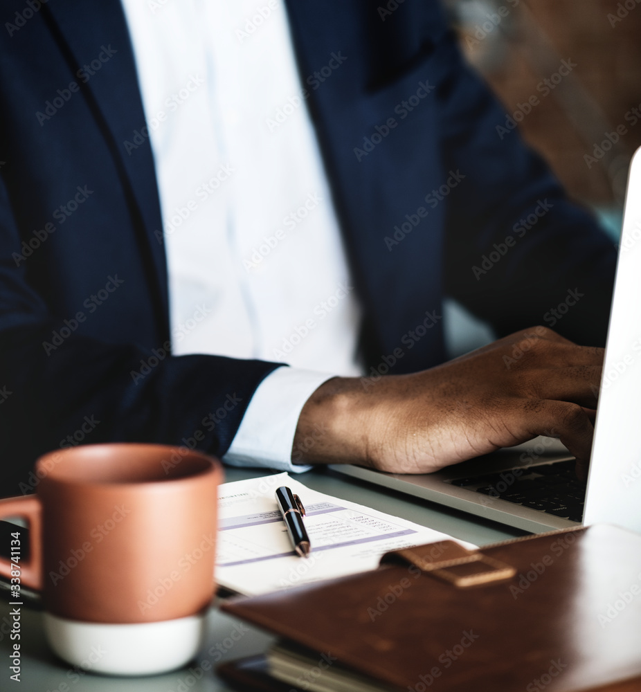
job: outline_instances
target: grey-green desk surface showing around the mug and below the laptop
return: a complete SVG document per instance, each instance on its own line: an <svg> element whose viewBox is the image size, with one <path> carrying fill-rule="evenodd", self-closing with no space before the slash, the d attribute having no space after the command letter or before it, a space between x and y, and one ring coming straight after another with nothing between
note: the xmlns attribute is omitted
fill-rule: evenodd
<svg viewBox="0 0 641 692"><path fill-rule="evenodd" d="M226 468L226 480L265 475L264 470ZM327 469L300 476L310 488L343 500L352 500L400 516L446 534L486 545L497 540L523 535L476 518L470 514L439 507L436 504L385 491ZM9 638L6 600L0 602L0 659L8 661ZM24 692L213 692L229 688L217 679L212 668L219 663L260 653L272 638L241 621L228 617L217 608L210 610L208 637L203 650L190 666L167 675L138 678L101 677L76 671L57 659L48 649L42 631L42 614L23 606L21 612L22 676L19 689ZM0 666L0 688L10 689L8 663Z"/></svg>

